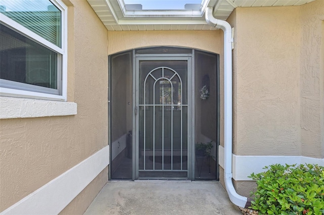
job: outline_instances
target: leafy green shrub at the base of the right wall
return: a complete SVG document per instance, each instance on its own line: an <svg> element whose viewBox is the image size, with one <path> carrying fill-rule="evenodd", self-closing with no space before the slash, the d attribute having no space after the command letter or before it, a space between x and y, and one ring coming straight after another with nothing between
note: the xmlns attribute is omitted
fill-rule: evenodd
<svg viewBox="0 0 324 215"><path fill-rule="evenodd" d="M275 164L263 169L249 176L257 182L252 209L259 214L324 214L324 167Z"/></svg>

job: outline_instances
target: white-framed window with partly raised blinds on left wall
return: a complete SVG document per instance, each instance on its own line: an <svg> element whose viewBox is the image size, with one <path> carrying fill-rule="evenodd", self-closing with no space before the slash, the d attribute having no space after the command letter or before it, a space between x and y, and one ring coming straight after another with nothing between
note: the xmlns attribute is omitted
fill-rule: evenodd
<svg viewBox="0 0 324 215"><path fill-rule="evenodd" d="M66 100L66 16L60 0L1 0L0 93Z"/></svg>

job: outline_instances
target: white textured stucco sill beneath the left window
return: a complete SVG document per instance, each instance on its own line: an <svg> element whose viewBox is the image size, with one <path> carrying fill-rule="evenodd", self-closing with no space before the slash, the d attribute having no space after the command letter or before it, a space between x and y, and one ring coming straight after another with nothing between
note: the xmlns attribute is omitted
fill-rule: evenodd
<svg viewBox="0 0 324 215"><path fill-rule="evenodd" d="M0 119L76 115L74 102L0 96Z"/></svg>

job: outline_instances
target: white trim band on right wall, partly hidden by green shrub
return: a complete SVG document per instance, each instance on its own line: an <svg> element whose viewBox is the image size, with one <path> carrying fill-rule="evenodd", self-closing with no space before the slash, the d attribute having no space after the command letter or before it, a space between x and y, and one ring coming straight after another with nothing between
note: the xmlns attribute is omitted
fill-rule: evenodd
<svg viewBox="0 0 324 215"><path fill-rule="evenodd" d="M218 147L219 165L224 169L224 147ZM242 156L232 154L232 172L235 181L252 181L248 176L251 173L264 172L262 168L272 164L318 164L324 166L324 158L313 158L305 156Z"/></svg>

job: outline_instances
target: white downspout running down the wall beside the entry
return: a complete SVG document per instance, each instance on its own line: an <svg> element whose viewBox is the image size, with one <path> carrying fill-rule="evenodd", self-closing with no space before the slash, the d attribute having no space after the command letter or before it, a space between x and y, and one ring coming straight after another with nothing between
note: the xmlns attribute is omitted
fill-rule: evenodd
<svg viewBox="0 0 324 215"><path fill-rule="evenodd" d="M251 200L238 195L232 182L232 28L213 16L213 8L206 9L206 22L224 31L224 172L228 196L235 205L248 207ZM249 201L248 201L249 200Z"/></svg>

